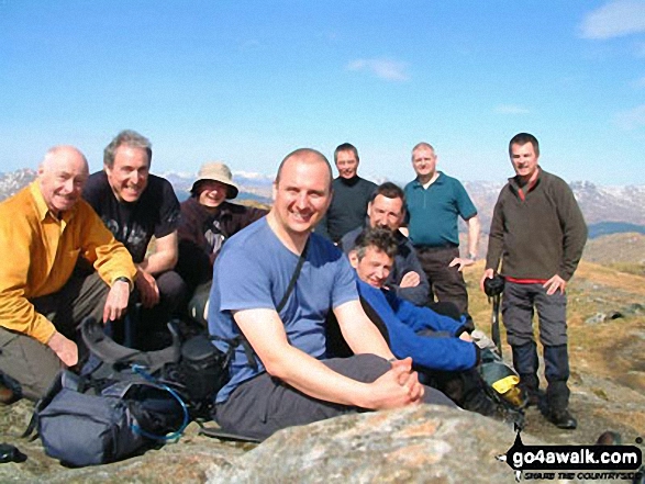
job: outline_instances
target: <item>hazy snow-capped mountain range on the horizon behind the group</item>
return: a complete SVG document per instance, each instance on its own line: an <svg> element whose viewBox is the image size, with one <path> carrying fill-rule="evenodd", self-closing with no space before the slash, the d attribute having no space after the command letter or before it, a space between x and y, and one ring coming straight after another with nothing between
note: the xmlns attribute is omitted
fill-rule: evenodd
<svg viewBox="0 0 645 484"><path fill-rule="evenodd" d="M177 172L162 173L175 187L177 196L186 200L194 176ZM29 168L0 173L0 201L18 192L36 176ZM271 202L273 176L238 171L233 180L240 185L238 200ZM490 226L494 202L505 182L466 181L464 185L479 210L485 233ZM580 204L590 238L618 233L645 234L645 185L598 187L588 181L575 181L571 189Z"/></svg>

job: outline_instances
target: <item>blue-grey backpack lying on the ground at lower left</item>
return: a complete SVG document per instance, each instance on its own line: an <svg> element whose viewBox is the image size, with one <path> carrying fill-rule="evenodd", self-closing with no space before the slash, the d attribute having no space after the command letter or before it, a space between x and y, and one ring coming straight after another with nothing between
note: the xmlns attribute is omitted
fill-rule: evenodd
<svg viewBox="0 0 645 484"><path fill-rule="evenodd" d="M188 425L180 398L149 382L118 382L84 393L78 375L63 370L38 402L34 427L47 455L71 466L114 462L177 437ZM174 432L167 436L168 432Z"/></svg>

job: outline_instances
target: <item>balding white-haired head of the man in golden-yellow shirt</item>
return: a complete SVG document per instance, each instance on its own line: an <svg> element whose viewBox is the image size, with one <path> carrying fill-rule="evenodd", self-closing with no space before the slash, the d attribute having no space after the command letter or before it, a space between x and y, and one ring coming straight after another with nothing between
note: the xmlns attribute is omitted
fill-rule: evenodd
<svg viewBox="0 0 645 484"><path fill-rule="evenodd" d="M88 177L87 159L74 146L55 146L47 150L38 167L38 185L55 216L78 202Z"/></svg>

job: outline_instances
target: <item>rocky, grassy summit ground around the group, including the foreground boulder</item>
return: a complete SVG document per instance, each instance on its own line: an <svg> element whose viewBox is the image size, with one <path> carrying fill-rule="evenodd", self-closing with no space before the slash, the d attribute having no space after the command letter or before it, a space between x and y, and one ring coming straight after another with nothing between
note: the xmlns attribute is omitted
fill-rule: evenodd
<svg viewBox="0 0 645 484"><path fill-rule="evenodd" d="M488 330L491 306L475 289L481 271L480 263L468 268L466 279L472 316ZM611 430L620 434L623 444L645 453L645 316L640 311L644 282L640 275L581 263L568 288L570 408L578 428L560 430L531 407L521 434L525 444L592 444ZM590 322L598 313L621 317ZM504 356L510 357L507 346ZM544 384L543 374L541 379ZM25 401L0 406L0 442L16 446L27 458L0 464L2 483L515 482L511 468L496 459L513 444L514 431L479 415L441 407L344 416L282 430L259 446L201 436L193 423L176 443L85 469L64 468L44 453L40 440L20 437L32 408Z"/></svg>

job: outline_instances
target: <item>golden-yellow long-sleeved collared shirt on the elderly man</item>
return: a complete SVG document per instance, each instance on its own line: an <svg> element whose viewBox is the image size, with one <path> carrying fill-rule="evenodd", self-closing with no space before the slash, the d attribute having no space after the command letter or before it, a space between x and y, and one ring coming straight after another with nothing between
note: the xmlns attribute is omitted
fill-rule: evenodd
<svg viewBox="0 0 645 484"><path fill-rule="evenodd" d="M79 256L92 262L107 284L134 280L136 269L87 202L79 200L60 220L52 214L38 181L0 203L0 326L46 344L56 328L30 299L59 291Z"/></svg>

